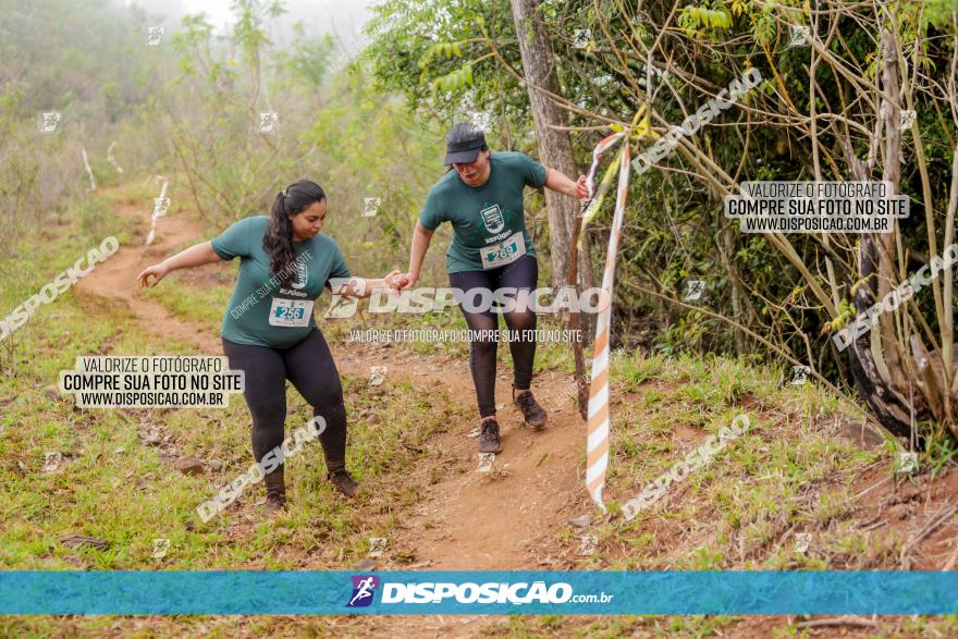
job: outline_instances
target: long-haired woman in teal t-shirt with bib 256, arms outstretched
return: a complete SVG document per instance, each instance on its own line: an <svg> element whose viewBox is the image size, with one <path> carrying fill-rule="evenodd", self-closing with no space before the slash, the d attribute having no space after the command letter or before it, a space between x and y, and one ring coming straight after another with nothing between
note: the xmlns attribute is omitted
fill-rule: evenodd
<svg viewBox="0 0 958 639"><path fill-rule="evenodd" d="M140 286L150 286L176 269L241 258L236 287L223 316L223 352L231 369L245 371L243 395L253 415L253 454L265 475L268 514L285 504L282 453L275 451L282 450L287 379L324 426L319 439L329 479L346 496L358 489L346 470L343 389L312 305L323 288L367 297L385 284L351 277L336 243L319 232L326 216L323 189L300 180L277 194L271 216L240 220L219 237L139 273ZM150 275L156 278L151 284Z"/></svg>

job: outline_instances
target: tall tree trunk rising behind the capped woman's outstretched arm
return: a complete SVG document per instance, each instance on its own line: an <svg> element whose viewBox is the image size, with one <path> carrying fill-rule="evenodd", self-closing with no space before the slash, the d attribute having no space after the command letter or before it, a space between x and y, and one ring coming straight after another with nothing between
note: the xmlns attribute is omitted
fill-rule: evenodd
<svg viewBox="0 0 958 639"><path fill-rule="evenodd" d="M542 164L566 175L575 177L576 164L573 156L572 140L567 131L556 131L550 125L566 126L565 112L535 87L541 87L558 95L558 78L555 75L555 54L552 44L541 22L535 16L538 0L511 0L513 17L516 23L516 36L523 56L523 69L526 74L526 88L529 91L529 103L532 107L532 119L536 121L536 133L539 137L539 158ZM579 205L568 197L545 189L545 206L549 211L549 247L552 253L552 286L561 287L568 272L569 238L572 224ZM585 265L584 265L585 267ZM579 269L579 282L586 268Z"/></svg>

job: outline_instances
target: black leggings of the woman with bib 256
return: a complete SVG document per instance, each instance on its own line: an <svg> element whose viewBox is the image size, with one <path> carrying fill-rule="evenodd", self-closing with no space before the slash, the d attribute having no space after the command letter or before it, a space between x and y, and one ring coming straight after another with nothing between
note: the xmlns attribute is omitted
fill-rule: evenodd
<svg viewBox="0 0 958 639"><path fill-rule="evenodd" d="M314 329L288 348L236 344L223 339L230 368L246 371L243 396L253 414L253 455L257 462L283 443L286 420L286 379L312 406L312 415L326 419L319 435L327 469L346 467L346 407L332 353L322 333Z"/></svg>

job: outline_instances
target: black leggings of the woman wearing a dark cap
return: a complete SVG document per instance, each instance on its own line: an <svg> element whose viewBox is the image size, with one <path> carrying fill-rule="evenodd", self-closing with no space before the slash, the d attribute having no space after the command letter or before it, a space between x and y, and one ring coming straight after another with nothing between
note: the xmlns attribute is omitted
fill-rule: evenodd
<svg viewBox="0 0 958 639"><path fill-rule="evenodd" d="M533 290L539 281L539 262L530 255L524 255L511 265L489 271L466 271L450 273L450 286L468 292L470 288L518 288ZM478 295L474 297L478 305ZM499 329L499 314L469 312L459 305L466 323L472 331L494 331ZM509 331L531 331L536 329L536 314L531 308L525 311L501 314ZM489 333L486 333L489 334ZM523 336L523 333L519 333ZM479 416L495 415L495 340L472 341L469 344L469 369L472 371L472 383L476 384L476 400L479 403ZM536 358L535 340L509 340L513 354L514 384L526 390L532 384L532 361Z"/></svg>

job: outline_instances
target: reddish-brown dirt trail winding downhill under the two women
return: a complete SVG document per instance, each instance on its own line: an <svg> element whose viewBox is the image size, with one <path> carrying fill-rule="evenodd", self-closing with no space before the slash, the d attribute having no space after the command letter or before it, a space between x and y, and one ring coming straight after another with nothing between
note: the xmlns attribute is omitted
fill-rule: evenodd
<svg viewBox="0 0 958 639"><path fill-rule="evenodd" d="M149 212L145 208L123 206L118 213L139 220L139 237L146 236ZM116 255L83 280L79 287L122 302L145 330L194 343L197 353L221 355L218 331L184 320L144 298L136 283L136 275L143 268L164 259L174 248L200 237L200 234L201 226L183 212L160 218L152 246L121 246ZM231 267L202 267L225 268ZM160 286L170 284L164 281ZM388 382L405 378L425 394L437 386L445 388L451 396L475 411L475 393L465 360L441 361L401 348L371 344L353 344L348 348L331 344L331 347L342 372L368 374L370 365L386 365L390 371ZM565 402L562 411L550 409L550 421L544 430L533 432L523 427L518 413L511 406L508 372L500 371L496 381L504 446L504 452L496 458L496 472L491 476L476 472L477 440L467 437L476 423L470 420L453 425L450 432L431 441L430 451L435 455L418 465L410 476L410 479L428 477L435 463L444 468L437 481L421 482L429 488L414 512L401 516L401 539L390 543L392 548L414 549L422 567L545 568L561 557L549 556L551 544L543 542L555 533L557 527L565 526L569 517L590 512L581 488L584 469L579 460L585 445L584 423L574 414L570 403ZM537 377L533 386L537 395L544 398L560 396L567 384L568 376L546 373Z"/></svg>

